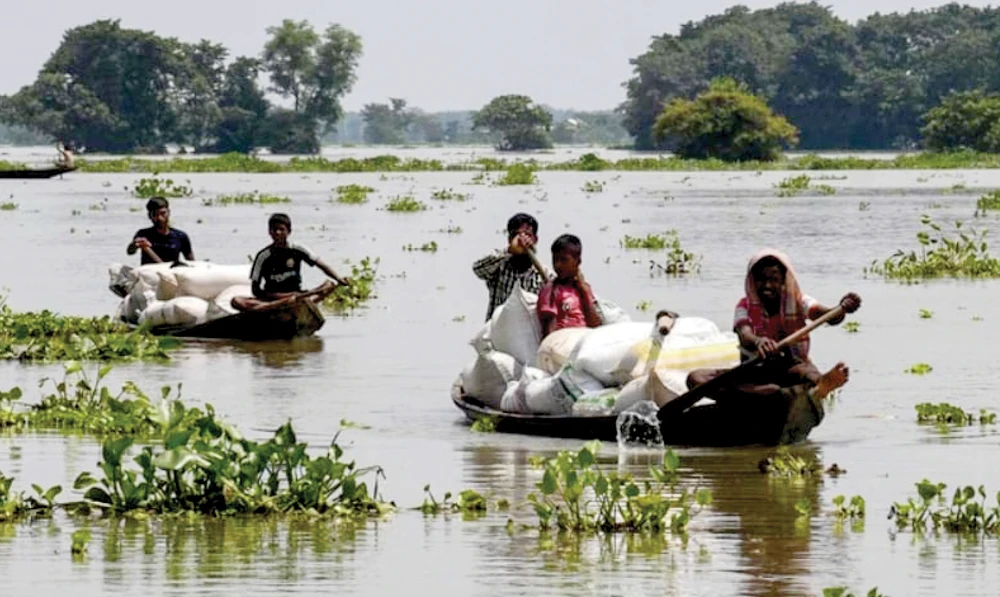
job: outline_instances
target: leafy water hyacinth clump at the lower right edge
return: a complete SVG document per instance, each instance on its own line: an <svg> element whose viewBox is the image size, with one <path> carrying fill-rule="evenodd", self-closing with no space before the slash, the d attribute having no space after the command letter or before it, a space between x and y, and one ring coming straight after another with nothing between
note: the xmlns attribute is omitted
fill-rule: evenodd
<svg viewBox="0 0 1000 597"><path fill-rule="evenodd" d="M996 535L1000 533L1000 492L997 506L987 507L986 491L980 485L955 489L951 504L945 502L944 483L931 483L927 479L916 483L918 499L907 498L905 504L893 503L889 518L895 519L900 529L909 528L922 533L930 527L937 532ZM976 499L976 496L979 499Z"/></svg>

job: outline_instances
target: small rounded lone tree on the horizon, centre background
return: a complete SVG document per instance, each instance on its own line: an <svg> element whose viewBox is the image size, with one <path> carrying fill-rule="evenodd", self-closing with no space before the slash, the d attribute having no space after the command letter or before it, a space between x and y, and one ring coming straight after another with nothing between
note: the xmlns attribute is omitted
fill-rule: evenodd
<svg viewBox="0 0 1000 597"><path fill-rule="evenodd" d="M493 98L472 117L473 130L487 130L497 137L501 151L551 147L552 114L525 95Z"/></svg>

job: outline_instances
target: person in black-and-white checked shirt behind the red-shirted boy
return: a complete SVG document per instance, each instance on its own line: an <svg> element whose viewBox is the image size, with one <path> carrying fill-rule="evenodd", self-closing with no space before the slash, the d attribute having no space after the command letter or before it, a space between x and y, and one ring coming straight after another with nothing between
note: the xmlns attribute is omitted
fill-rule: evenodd
<svg viewBox="0 0 1000 597"><path fill-rule="evenodd" d="M472 264L473 273L486 282L490 293L486 321L507 301L514 288L520 286L536 294L541 289L544 280L532 267L529 253L537 242L538 220L525 213L514 214L507 220L507 247Z"/></svg>

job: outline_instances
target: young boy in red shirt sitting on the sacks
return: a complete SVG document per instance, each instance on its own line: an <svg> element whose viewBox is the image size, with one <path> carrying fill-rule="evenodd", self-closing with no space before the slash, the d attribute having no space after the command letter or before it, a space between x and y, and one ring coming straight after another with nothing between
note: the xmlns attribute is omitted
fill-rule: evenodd
<svg viewBox="0 0 1000 597"><path fill-rule="evenodd" d="M582 257L583 243L572 234L563 234L552 243L552 269L556 277L542 286L536 307L543 338L563 328L601 325L594 291L580 271Z"/></svg>

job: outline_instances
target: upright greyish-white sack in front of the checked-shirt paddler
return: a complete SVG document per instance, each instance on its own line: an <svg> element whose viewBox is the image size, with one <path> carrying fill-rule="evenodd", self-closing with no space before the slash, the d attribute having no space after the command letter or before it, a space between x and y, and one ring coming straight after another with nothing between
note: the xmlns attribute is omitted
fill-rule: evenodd
<svg viewBox="0 0 1000 597"><path fill-rule="evenodd" d="M480 354L498 350L522 364L534 365L542 340L542 326L535 312L537 304L537 295L521 287L515 288L470 344Z"/></svg>

